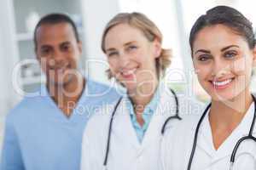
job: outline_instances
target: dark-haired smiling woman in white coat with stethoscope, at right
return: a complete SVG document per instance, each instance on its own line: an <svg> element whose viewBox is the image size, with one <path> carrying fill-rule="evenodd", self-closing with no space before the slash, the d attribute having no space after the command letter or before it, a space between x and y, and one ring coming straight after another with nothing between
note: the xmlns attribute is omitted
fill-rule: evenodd
<svg viewBox="0 0 256 170"><path fill-rule="evenodd" d="M249 84L256 50L251 22L235 8L218 6L196 20L189 42L198 80L212 105L166 132L163 169L255 170L256 104Z"/></svg>

